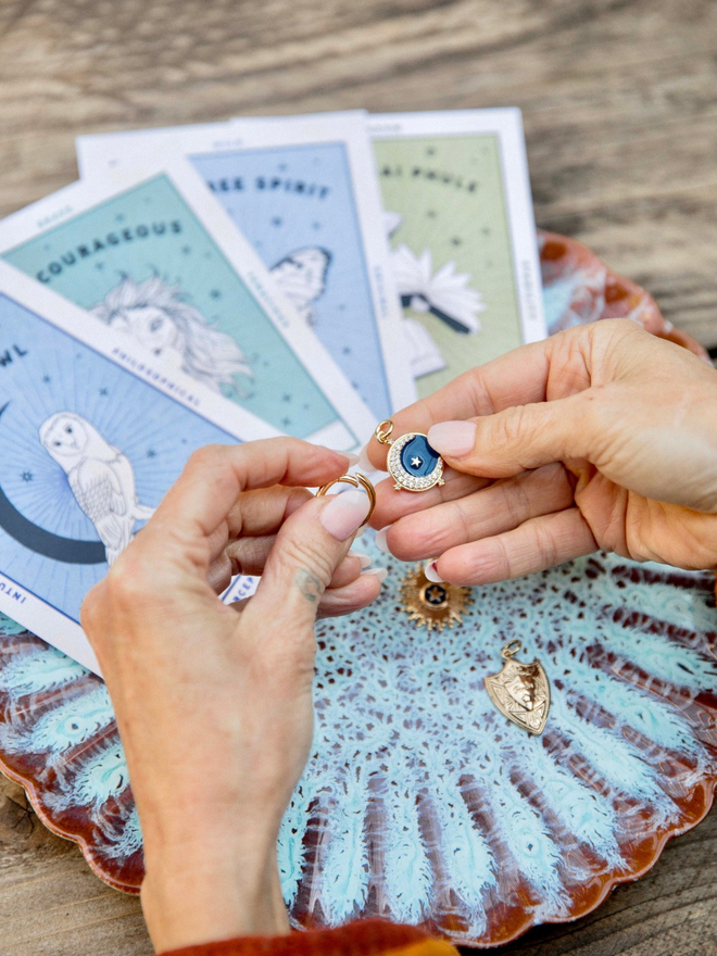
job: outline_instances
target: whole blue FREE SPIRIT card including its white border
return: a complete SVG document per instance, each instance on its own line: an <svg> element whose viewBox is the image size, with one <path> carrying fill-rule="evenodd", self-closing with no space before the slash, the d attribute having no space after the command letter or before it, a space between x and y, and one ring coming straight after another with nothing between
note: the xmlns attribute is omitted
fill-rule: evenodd
<svg viewBox="0 0 717 956"><path fill-rule="evenodd" d="M80 173L189 158L375 419L415 401L365 114L80 136Z"/></svg>

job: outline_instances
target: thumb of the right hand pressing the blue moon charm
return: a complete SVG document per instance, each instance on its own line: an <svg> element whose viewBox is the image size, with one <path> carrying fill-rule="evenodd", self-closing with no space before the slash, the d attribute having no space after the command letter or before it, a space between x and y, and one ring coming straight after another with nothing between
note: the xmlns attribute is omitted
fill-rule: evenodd
<svg viewBox="0 0 717 956"><path fill-rule="evenodd" d="M589 457L591 399L584 391L465 422L442 422L428 431L428 441L458 471L510 478L553 462Z"/></svg>

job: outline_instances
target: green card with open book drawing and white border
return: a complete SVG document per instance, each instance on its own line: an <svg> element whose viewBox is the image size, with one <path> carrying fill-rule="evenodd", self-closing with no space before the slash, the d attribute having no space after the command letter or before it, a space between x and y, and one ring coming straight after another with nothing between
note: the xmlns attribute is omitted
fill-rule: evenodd
<svg viewBox="0 0 717 956"><path fill-rule="evenodd" d="M368 118L420 397L545 338L518 110Z"/></svg>

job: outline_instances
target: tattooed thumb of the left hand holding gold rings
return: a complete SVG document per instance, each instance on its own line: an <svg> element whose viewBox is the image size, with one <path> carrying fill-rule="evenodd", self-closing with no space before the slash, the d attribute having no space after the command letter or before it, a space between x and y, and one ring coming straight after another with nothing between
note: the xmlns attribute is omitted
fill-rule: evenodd
<svg viewBox="0 0 717 956"><path fill-rule="evenodd" d="M313 628L322 595L368 511L368 496L358 489L314 498L298 508L276 537L251 600L252 615L293 630Z"/></svg>

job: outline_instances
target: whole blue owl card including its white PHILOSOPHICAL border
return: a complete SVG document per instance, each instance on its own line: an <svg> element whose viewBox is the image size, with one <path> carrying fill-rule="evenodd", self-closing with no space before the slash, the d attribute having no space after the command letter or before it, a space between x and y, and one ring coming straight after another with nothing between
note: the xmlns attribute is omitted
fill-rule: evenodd
<svg viewBox="0 0 717 956"><path fill-rule="evenodd" d="M276 433L0 263L0 611L99 672L87 592L196 449Z"/></svg>

